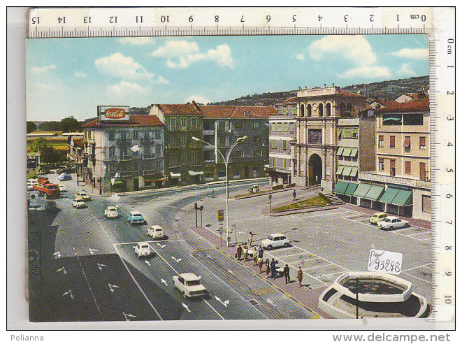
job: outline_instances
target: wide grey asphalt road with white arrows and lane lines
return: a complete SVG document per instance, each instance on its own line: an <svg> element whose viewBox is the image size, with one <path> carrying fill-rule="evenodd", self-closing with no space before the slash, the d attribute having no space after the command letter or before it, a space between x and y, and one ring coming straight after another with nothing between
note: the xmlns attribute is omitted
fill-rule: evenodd
<svg viewBox="0 0 462 344"><path fill-rule="evenodd" d="M51 174L50 180L57 177ZM92 196L75 209L75 182L61 182L67 192L59 212L43 209L36 197L29 210L29 317L31 321L247 320L304 319L316 315L245 267L212 248L193 231L178 226L180 209L210 196L211 187L161 189L114 199ZM261 183L261 182L260 182ZM247 189L259 182L232 184ZM215 186L215 194L224 187ZM85 189L85 187L83 187ZM120 216L107 219L106 206ZM147 224L131 225L127 213L143 213ZM168 238L150 241L147 225L159 224ZM138 259L133 245L150 241L155 253ZM173 287L173 275L201 275L209 296L187 299Z"/></svg>

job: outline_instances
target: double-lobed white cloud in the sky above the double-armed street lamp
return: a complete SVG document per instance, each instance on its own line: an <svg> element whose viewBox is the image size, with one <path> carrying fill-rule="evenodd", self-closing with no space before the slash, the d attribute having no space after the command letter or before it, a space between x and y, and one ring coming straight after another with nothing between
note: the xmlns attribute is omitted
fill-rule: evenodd
<svg viewBox="0 0 462 344"><path fill-rule="evenodd" d="M214 61L220 66L233 68L234 59L228 45L218 45L215 49L200 52L196 42L168 41L163 47L151 53L152 57L167 59L166 66L171 69L185 69L198 61Z"/></svg>

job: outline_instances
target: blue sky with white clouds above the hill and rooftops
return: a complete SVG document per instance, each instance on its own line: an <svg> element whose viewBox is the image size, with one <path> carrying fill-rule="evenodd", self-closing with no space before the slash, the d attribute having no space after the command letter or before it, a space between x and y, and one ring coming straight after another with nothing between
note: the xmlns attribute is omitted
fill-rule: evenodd
<svg viewBox="0 0 462 344"><path fill-rule="evenodd" d="M27 40L27 119L428 75L419 35Z"/></svg>

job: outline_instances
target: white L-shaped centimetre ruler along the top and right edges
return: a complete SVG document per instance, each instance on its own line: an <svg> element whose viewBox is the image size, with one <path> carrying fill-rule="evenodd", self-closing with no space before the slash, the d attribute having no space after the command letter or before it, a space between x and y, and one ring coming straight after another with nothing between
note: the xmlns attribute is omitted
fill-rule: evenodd
<svg viewBox="0 0 462 344"><path fill-rule="evenodd" d="M433 317L455 315L455 10L452 8L36 8L28 38L427 34Z"/></svg>

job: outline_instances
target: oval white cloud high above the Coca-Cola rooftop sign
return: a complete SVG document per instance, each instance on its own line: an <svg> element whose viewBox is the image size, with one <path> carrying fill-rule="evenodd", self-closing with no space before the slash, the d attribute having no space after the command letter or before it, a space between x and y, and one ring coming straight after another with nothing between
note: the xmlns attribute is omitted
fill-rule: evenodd
<svg viewBox="0 0 462 344"><path fill-rule="evenodd" d="M151 79L154 76L154 73L147 72L145 67L134 61L132 57L125 57L120 52L100 57L95 60L94 65L101 73L116 78L140 80Z"/></svg>

